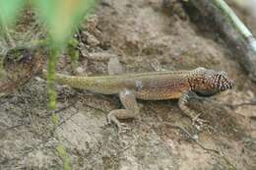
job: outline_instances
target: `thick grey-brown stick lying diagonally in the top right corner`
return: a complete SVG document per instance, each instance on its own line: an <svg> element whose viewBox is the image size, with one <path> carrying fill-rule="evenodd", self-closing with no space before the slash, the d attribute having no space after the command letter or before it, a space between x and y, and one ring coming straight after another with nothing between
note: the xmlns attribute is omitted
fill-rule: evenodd
<svg viewBox="0 0 256 170"><path fill-rule="evenodd" d="M224 0L191 0L202 16L214 22L241 65L256 82L256 39Z"/></svg>

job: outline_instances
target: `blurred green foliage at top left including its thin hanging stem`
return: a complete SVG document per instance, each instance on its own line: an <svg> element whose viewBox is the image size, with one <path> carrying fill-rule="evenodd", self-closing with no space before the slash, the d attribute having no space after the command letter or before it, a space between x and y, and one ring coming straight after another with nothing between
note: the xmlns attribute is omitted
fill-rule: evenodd
<svg viewBox="0 0 256 170"><path fill-rule="evenodd" d="M96 0L0 0L0 24L3 31L12 26L17 20L19 12L26 4L31 4L37 12L40 21L48 28L48 42L50 55L48 56L48 94L49 108L56 108L56 92L54 90L55 67L62 49L68 44L73 48L73 61L78 60L78 53L74 50L76 42L70 42L70 37L79 22L86 17L96 5ZM5 37L9 35L6 32ZM8 40L8 39L6 39Z"/></svg>

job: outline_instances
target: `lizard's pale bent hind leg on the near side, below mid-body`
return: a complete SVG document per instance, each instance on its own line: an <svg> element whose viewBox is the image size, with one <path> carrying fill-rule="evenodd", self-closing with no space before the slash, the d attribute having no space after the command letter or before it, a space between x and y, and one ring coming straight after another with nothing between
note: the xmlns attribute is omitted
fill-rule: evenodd
<svg viewBox="0 0 256 170"><path fill-rule="evenodd" d="M124 106L124 109L112 110L109 112L107 118L109 122L113 122L118 129L121 129L122 124L118 119L136 118L136 116L139 114L139 107L133 90L126 88L121 90L119 92L119 98Z"/></svg>

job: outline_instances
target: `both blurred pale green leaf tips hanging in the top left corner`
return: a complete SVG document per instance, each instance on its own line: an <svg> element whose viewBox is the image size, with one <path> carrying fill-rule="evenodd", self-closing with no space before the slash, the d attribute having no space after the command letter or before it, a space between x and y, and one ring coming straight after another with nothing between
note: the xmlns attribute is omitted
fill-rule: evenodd
<svg viewBox="0 0 256 170"><path fill-rule="evenodd" d="M10 27L26 4L32 4L56 45L64 45L72 30L90 13L96 0L0 0L0 19Z"/></svg>

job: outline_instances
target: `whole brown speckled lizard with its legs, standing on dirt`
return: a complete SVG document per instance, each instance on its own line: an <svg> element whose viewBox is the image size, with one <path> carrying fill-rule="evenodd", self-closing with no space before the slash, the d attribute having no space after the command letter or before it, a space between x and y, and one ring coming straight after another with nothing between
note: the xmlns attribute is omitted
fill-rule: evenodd
<svg viewBox="0 0 256 170"><path fill-rule="evenodd" d="M47 72L43 71L46 78ZM118 94L123 109L112 110L107 119L118 129L120 119L136 118L139 114L137 99L166 100L178 99L178 106L193 123L201 122L201 114L191 110L186 103L191 94L211 96L234 87L224 71L203 67L189 71L160 71L152 73L124 74L114 76L78 77L56 74L56 82L101 94Z"/></svg>

